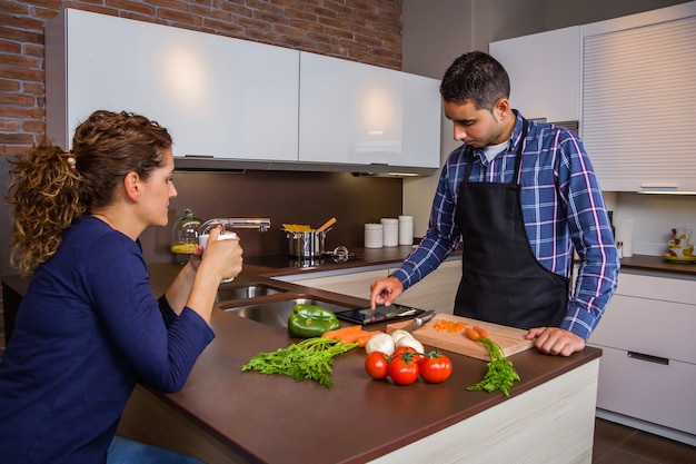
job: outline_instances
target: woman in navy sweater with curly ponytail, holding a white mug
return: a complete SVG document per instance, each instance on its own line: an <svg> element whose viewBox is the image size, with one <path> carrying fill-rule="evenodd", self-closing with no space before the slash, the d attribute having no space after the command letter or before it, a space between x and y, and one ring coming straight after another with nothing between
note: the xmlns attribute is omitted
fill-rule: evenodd
<svg viewBox="0 0 696 464"><path fill-rule="evenodd" d="M183 386L215 337L220 279L241 272L239 241L216 240L216 229L205 255L197 247L152 295L138 236L167 225L171 145L142 116L96 111L71 152L43 144L16 162L11 259L32 278L0 363L3 462L198 462L115 440L137 382Z"/></svg>

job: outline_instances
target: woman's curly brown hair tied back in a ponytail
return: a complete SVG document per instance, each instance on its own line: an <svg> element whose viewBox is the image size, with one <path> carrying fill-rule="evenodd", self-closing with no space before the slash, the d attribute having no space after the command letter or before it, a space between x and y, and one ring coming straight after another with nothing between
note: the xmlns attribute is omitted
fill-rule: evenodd
<svg viewBox="0 0 696 464"><path fill-rule="evenodd" d="M99 110L76 129L71 152L44 141L18 157L7 197L14 214L12 265L31 276L74 219L111 204L128 172L148 179L169 148L171 136L157 122Z"/></svg>

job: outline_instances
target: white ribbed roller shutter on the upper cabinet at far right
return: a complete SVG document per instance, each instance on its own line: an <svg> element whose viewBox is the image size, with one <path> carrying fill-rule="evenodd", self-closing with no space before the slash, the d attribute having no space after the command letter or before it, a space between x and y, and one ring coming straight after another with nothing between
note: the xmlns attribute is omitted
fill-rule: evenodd
<svg viewBox="0 0 696 464"><path fill-rule="evenodd" d="M600 182L694 179L695 102L696 17L585 37L580 126Z"/></svg>

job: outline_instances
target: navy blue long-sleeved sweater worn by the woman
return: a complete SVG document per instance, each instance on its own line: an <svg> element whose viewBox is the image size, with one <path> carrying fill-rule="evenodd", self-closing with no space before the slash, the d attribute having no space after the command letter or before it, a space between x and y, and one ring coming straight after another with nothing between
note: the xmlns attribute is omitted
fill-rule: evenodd
<svg viewBox="0 0 696 464"><path fill-rule="evenodd" d="M213 337L152 295L138 243L76 221L29 283L0 362L0 460L106 462L136 383L180 389Z"/></svg>

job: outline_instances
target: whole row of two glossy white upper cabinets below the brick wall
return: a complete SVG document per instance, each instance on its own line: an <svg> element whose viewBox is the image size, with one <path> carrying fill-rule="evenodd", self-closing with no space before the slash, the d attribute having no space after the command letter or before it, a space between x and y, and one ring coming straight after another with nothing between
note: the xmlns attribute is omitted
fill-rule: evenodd
<svg viewBox="0 0 696 464"><path fill-rule="evenodd" d="M46 49L47 134L63 148L107 109L167 127L183 169L439 167L435 79L72 9L49 22Z"/></svg>

